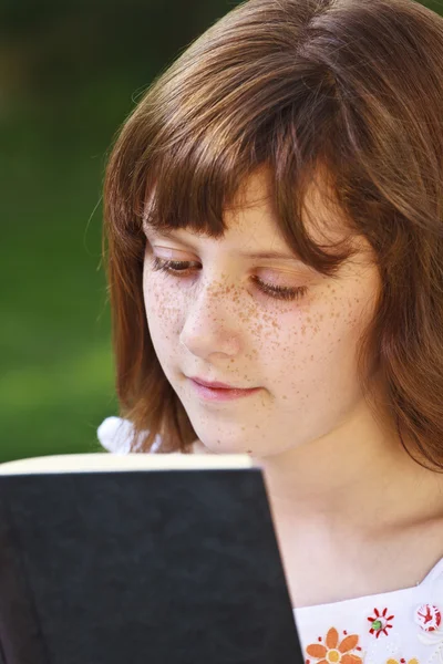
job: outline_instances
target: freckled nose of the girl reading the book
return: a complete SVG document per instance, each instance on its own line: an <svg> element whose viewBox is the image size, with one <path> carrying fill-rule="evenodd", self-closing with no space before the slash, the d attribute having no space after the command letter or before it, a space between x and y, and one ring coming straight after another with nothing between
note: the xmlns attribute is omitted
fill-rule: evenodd
<svg viewBox="0 0 443 664"><path fill-rule="evenodd" d="M203 360L234 357L240 350L238 314L227 289L202 284L189 304L179 342Z"/></svg>

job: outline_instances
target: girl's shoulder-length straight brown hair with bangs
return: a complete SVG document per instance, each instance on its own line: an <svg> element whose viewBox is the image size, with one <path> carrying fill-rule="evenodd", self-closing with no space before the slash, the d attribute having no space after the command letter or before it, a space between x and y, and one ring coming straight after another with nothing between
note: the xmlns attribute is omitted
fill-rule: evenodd
<svg viewBox="0 0 443 664"><path fill-rule="evenodd" d="M125 122L109 159L105 250L122 415L142 450L196 438L148 334L142 220L222 237L224 210L270 173L288 245L334 277L302 222L320 170L377 258L382 292L361 344L400 437L443 468L443 19L412 0L249 0L193 42ZM151 197L150 207L146 201ZM331 198L331 199L332 199ZM138 438L140 439L140 438ZM410 453L411 454L411 453Z"/></svg>

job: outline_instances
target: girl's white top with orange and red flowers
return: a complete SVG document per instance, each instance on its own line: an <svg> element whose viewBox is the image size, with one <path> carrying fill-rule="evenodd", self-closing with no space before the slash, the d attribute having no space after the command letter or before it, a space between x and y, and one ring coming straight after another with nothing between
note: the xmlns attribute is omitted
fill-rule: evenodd
<svg viewBox="0 0 443 664"><path fill-rule="evenodd" d="M131 429L130 422L107 417L99 440L126 454ZM159 444L157 436L151 452ZM293 615L306 664L443 664L443 558L412 588L295 608Z"/></svg>

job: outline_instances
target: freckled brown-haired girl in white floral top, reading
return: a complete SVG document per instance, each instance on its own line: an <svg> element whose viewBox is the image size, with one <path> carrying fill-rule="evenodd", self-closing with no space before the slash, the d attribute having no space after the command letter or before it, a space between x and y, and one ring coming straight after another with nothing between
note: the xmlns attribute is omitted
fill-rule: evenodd
<svg viewBox="0 0 443 664"><path fill-rule="evenodd" d="M260 464L311 664L443 657L442 106L413 0L249 0L107 166L100 438Z"/></svg>

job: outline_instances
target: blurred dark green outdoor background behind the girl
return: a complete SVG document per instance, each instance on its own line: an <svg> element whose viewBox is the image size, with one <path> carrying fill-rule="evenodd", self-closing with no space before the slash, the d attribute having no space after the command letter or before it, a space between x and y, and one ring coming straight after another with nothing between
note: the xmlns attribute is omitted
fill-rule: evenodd
<svg viewBox="0 0 443 664"><path fill-rule="evenodd" d="M0 461L101 449L117 413L106 154L152 79L236 4L0 1Z"/></svg>

